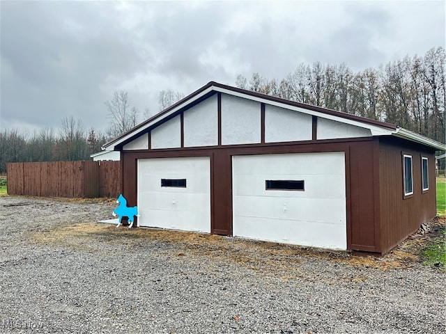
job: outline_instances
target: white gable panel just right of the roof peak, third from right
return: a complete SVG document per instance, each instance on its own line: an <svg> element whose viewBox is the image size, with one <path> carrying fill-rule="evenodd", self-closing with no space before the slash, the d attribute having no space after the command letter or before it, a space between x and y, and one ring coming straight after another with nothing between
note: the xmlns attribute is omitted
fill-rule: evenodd
<svg viewBox="0 0 446 334"><path fill-rule="evenodd" d="M261 143L261 104L222 94L222 145Z"/></svg>

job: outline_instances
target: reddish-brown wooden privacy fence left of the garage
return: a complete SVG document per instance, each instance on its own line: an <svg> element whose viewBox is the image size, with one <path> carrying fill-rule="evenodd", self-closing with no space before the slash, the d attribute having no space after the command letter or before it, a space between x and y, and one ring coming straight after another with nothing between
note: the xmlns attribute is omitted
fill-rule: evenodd
<svg viewBox="0 0 446 334"><path fill-rule="evenodd" d="M52 161L6 164L8 194L43 197L118 197L119 161Z"/></svg>

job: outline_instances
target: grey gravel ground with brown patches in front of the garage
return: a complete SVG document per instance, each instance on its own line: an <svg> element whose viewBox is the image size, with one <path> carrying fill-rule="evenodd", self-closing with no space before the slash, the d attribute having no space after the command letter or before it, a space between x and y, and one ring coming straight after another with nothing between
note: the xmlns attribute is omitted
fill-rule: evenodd
<svg viewBox="0 0 446 334"><path fill-rule="evenodd" d="M409 255L95 223L115 206L0 198L1 333L445 333L445 271Z"/></svg>

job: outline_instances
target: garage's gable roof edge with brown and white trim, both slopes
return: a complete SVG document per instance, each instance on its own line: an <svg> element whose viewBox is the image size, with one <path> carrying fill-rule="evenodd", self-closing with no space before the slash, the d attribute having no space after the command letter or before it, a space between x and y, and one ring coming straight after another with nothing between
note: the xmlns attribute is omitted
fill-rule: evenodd
<svg viewBox="0 0 446 334"><path fill-rule="evenodd" d="M372 120L371 118L356 116L350 113L344 113L342 111L325 109L319 106L313 106L311 104L285 100L280 97L274 97L252 92L250 90L219 84L215 81L210 81L205 86L194 91L194 93L187 95L187 97L184 97L182 100L169 106L169 108L164 109L164 111L157 113L155 116L148 118L148 120L141 122L133 129L130 129L128 132L125 132L121 136L118 136L112 141L109 141L102 147L102 149L107 151L115 150L118 146L123 145L123 143L127 143L132 138L136 137L140 132L144 132L144 130L148 129L149 127L155 127L157 123L162 122L164 119L174 116L180 113L180 111L189 109L191 106L194 106L195 104L206 100L206 98L214 95L215 93L224 93L237 97L243 97L247 100L271 104L285 109L300 111L312 116L318 116L338 122L344 122L350 125L365 127L371 130L371 134L373 136L397 136L399 138L404 138L409 141L415 141L416 143L421 143L423 145L436 148L437 150L446 150L446 145L442 143L438 143L437 141L433 141L432 139L421 136L420 134L415 134L415 132L410 132L409 130L397 127L397 125L391 123L380 122L378 120Z"/></svg>

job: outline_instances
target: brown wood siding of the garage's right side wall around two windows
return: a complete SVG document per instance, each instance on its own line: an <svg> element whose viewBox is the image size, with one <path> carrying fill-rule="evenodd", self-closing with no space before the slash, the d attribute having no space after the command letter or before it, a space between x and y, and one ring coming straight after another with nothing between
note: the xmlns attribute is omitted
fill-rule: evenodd
<svg viewBox="0 0 446 334"><path fill-rule="evenodd" d="M436 216L435 152L398 138L380 138L380 253L387 253ZM402 154L413 164L413 196L403 196ZM422 191L421 157L429 159L429 191Z"/></svg>

